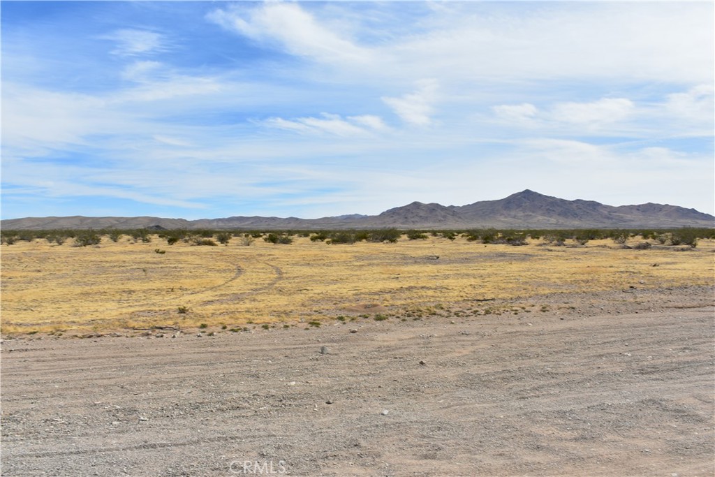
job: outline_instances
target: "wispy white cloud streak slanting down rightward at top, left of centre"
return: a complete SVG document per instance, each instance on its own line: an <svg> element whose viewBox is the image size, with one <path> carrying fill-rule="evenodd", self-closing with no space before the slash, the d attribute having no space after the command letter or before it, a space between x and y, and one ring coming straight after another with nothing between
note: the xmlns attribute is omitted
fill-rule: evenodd
<svg viewBox="0 0 715 477"><path fill-rule="evenodd" d="M217 9L207 19L256 41L277 41L292 54L319 61L365 62L370 56L367 49L332 31L298 4L267 3L247 12Z"/></svg>

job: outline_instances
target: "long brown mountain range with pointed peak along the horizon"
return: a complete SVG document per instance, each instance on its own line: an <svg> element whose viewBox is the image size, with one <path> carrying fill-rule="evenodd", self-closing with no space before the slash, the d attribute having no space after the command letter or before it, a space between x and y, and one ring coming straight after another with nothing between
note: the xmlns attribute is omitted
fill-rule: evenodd
<svg viewBox="0 0 715 477"><path fill-rule="evenodd" d="M666 228L715 227L715 217L676 205L603 205L593 200L565 200L532 190L499 200L469 205L412 202L380 215L340 215L320 219L297 217L226 217L223 219L164 219L161 217L27 217L0 222L9 230L149 228L163 229L400 229L448 228ZM161 227L161 228L159 228Z"/></svg>

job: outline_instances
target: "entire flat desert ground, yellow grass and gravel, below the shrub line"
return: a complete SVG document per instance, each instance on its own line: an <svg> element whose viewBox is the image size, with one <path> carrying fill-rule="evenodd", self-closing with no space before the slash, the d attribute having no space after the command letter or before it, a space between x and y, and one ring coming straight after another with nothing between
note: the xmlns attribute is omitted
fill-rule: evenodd
<svg viewBox="0 0 715 477"><path fill-rule="evenodd" d="M4 245L2 473L712 475L715 243L529 242Z"/></svg>

